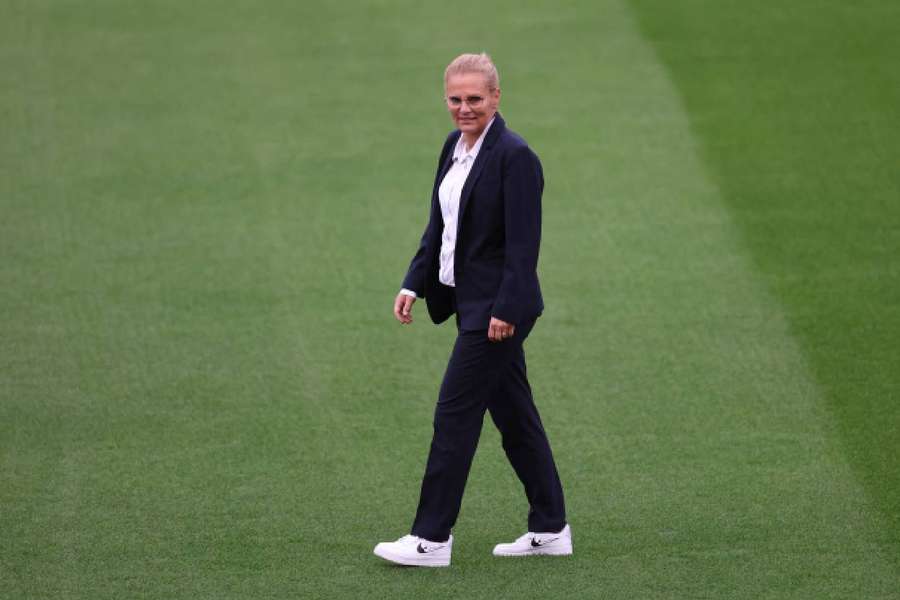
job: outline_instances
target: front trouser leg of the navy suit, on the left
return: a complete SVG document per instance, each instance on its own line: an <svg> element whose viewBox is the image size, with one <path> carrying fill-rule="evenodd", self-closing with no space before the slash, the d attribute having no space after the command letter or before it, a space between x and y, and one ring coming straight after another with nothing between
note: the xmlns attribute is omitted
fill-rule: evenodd
<svg viewBox="0 0 900 600"><path fill-rule="evenodd" d="M444 541L456 523L472 459L481 435L488 399L521 353L530 324L516 328L503 342L490 342L486 331L460 331L434 413L434 436L412 533Z"/></svg>

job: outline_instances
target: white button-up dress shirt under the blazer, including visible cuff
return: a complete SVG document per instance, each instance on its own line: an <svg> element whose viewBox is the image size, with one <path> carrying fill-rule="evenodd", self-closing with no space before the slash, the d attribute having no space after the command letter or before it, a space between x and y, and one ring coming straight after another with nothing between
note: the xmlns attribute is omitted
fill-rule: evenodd
<svg viewBox="0 0 900 600"><path fill-rule="evenodd" d="M453 257L456 255L456 229L457 220L459 219L460 196L462 196L462 189L466 184L469 171L472 170L472 165L475 164L475 159L481 150L484 136L487 135L493 123L494 119L491 119L471 148L466 148L465 136L459 136L459 139L456 141L456 147L453 149L453 165L447 171L447 174L441 181L441 186L438 188L441 216L444 219L444 232L441 234L438 281L450 287L456 286L456 279L453 275ZM407 296L416 296L415 292L406 288L400 290L400 293Z"/></svg>

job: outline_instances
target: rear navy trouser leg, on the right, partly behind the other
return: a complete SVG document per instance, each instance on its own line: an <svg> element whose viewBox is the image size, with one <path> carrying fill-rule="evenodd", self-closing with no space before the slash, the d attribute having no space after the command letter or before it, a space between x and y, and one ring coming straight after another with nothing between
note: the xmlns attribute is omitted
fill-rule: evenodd
<svg viewBox="0 0 900 600"><path fill-rule="evenodd" d="M550 442L528 384L523 348L510 361L488 399L503 450L525 488L529 531L560 531L566 525L562 485Z"/></svg>

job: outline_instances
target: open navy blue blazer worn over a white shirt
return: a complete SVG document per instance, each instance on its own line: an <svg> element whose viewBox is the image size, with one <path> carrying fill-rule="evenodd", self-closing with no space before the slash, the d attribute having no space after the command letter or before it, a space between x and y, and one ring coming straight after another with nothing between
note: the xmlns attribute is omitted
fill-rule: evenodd
<svg viewBox="0 0 900 600"><path fill-rule="evenodd" d="M498 113L469 171L459 200L453 288L438 281L444 219L438 188L453 164L461 132L447 136L431 192L431 215L403 287L424 297L435 323L457 313L459 327L487 329L491 317L509 323L544 310L537 277L541 241L541 162L506 128Z"/></svg>

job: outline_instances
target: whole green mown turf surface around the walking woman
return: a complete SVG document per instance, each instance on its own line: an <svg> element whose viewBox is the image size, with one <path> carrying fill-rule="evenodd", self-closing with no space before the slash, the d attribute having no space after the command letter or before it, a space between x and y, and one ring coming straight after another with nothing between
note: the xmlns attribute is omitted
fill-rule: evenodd
<svg viewBox="0 0 900 600"><path fill-rule="evenodd" d="M12 2L0 597L900 597L891 3ZM576 555L406 533L450 327L392 322L493 53L547 178L528 344Z"/></svg>

